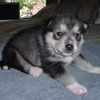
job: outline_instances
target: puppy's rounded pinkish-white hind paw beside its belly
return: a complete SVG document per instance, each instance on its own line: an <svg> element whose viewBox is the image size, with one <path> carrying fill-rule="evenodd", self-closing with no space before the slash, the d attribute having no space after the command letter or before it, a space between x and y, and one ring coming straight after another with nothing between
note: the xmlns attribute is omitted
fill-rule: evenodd
<svg viewBox="0 0 100 100"><path fill-rule="evenodd" d="M29 73L33 76L33 77L39 77L42 74L43 70L41 68L38 67L31 67Z"/></svg>

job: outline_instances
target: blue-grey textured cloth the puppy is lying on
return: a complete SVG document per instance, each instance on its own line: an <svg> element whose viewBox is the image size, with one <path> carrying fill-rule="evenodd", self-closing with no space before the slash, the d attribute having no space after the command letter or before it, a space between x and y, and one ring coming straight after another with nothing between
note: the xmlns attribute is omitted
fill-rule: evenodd
<svg viewBox="0 0 100 100"><path fill-rule="evenodd" d="M3 45L0 46L0 53ZM100 66L100 44L85 43L82 54L93 65ZM1 54L0 54L1 58ZM82 95L71 93L46 74L33 78L18 70L0 70L0 100L100 100L100 75L67 67L76 80L86 86Z"/></svg>

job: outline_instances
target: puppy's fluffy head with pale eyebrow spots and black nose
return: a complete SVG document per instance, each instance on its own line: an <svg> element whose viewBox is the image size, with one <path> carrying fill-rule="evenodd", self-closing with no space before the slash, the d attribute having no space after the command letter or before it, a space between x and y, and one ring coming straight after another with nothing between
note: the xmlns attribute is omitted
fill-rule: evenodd
<svg viewBox="0 0 100 100"><path fill-rule="evenodd" d="M84 43L86 29L87 24L73 15L56 15L47 26L47 48L53 55L60 57L78 54Z"/></svg>

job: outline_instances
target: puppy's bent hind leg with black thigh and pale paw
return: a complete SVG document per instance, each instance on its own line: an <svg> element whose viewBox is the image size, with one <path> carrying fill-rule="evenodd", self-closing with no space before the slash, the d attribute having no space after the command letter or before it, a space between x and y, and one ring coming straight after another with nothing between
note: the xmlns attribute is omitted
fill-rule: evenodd
<svg viewBox="0 0 100 100"><path fill-rule="evenodd" d="M29 64L13 47L8 47L4 50L1 65L3 69L13 67L29 73L34 77L38 77L42 74L41 68Z"/></svg>

